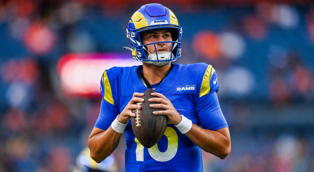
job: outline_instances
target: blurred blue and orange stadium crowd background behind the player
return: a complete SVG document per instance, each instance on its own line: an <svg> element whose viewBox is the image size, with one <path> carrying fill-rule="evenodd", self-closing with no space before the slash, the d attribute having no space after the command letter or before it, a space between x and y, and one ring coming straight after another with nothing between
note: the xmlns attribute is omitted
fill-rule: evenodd
<svg viewBox="0 0 314 172"><path fill-rule="evenodd" d="M72 171L111 66L140 64L130 16L153 1L0 1L0 171ZM168 0L183 27L176 63L217 71L232 149L204 171L314 169L314 3ZM184 101L184 100L181 100ZM124 138L113 153L124 170Z"/></svg>

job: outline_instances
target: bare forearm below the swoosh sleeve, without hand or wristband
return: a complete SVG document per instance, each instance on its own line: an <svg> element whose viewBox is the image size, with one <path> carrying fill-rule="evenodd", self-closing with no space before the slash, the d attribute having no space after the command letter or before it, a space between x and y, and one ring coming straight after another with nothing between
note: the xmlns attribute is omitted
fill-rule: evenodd
<svg viewBox="0 0 314 172"><path fill-rule="evenodd" d="M186 135L201 149L218 156L220 159L225 159L230 153L231 143L228 128L213 131L193 124Z"/></svg>

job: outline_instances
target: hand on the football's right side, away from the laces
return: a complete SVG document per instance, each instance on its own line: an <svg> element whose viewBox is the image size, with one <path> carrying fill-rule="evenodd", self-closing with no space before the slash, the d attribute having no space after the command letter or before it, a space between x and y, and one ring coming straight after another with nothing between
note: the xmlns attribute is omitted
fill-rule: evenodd
<svg viewBox="0 0 314 172"><path fill-rule="evenodd" d="M168 120L172 124L179 124L182 120L182 116L176 111L176 108L172 105L171 101L168 100L163 94L160 93L152 93L152 96L157 96L158 98L148 99L149 102L158 102L160 104L150 104L151 108L160 108L165 109L161 111L154 111L155 115L167 115Z"/></svg>

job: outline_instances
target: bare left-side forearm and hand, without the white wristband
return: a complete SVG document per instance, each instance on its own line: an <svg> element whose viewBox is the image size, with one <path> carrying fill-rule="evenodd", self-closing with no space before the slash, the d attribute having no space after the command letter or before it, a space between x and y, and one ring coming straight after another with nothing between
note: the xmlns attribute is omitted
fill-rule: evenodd
<svg viewBox="0 0 314 172"><path fill-rule="evenodd" d="M141 106L138 106L134 103L143 102L144 99L138 98L138 96L143 95L143 93L133 94L133 98L129 101L127 106L118 116L118 122L121 124L127 124L131 117L135 116L135 114L132 113L132 109L140 109ZM112 129L111 126L106 130L94 127L88 138L90 157L97 163L100 163L116 149L119 144L120 137L121 133L116 132L114 129Z"/></svg>

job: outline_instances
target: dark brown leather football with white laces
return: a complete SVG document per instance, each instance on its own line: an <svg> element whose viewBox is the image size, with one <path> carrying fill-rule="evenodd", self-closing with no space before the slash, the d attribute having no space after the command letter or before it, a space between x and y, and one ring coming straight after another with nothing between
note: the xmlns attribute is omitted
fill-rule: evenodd
<svg viewBox="0 0 314 172"><path fill-rule="evenodd" d="M166 115L154 115L154 111L160 111L164 109L157 109L149 107L149 104L159 104L157 102L149 102L148 99L156 96L150 95L154 93L154 89L147 89L144 95L141 97L144 102L135 102L135 104L141 105L141 109L133 109L132 112L136 114L132 117L132 129L135 137L145 147L153 147L164 135L167 127Z"/></svg>

